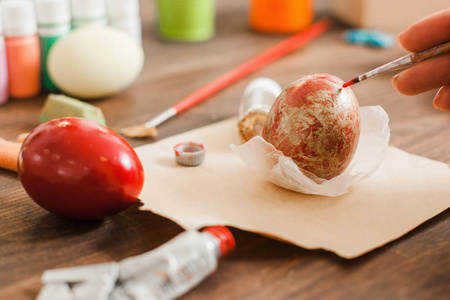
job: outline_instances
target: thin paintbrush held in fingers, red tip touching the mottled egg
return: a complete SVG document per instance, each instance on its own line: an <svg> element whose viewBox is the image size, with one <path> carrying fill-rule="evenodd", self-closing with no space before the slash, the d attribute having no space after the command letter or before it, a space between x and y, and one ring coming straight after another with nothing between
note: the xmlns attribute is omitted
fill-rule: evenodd
<svg viewBox="0 0 450 300"><path fill-rule="evenodd" d="M427 60L429 58L448 53L450 52L450 41L446 42L444 44L440 44L438 46L435 46L433 48L417 52L417 53L410 53L405 56L402 56L394 61L391 61L385 65L382 65L381 67L378 67L376 69L373 69L372 71L369 71L367 73L364 73L362 75L359 75L356 78L353 78L350 81L347 81L342 85L343 88L346 88L348 86L354 85L355 83L361 82L363 80L366 80L368 78L385 74L391 71L404 69L407 67L411 67L421 61Z"/></svg>

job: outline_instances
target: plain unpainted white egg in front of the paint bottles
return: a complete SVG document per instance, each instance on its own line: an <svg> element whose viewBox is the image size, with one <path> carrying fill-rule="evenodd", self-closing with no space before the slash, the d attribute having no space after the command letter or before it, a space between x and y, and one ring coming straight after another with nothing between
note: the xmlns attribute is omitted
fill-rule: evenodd
<svg viewBox="0 0 450 300"><path fill-rule="evenodd" d="M64 93L83 99L111 96L131 85L142 71L142 47L110 27L82 27L52 47L47 68Z"/></svg>

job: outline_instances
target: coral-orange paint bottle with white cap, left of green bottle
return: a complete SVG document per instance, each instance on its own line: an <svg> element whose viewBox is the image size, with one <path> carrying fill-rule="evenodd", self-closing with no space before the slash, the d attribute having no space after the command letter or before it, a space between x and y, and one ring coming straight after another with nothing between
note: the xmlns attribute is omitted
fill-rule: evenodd
<svg viewBox="0 0 450 300"><path fill-rule="evenodd" d="M1 5L9 92L14 98L35 96L41 88L41 58L34 2L9 0Z"/></svg>

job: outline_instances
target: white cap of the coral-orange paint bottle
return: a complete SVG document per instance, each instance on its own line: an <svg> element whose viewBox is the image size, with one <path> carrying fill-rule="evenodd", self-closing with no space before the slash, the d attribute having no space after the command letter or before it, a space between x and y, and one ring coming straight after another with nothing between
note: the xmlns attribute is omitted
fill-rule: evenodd
<svg viewBox="0 0 450 300"><path fill-rule="evenodd" d="M36 11L33 1L3 0L1 6L6 37L27 36L37 33Z"/></svg>

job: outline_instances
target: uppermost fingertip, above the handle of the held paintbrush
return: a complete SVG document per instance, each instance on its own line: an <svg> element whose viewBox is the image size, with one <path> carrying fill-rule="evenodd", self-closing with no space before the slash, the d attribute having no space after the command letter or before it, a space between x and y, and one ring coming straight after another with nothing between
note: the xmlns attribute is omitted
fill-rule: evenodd
<svg viewBox="0 0 450 300"><path fill-rule="evenodd" d="M450 40L450 8L436 12L409 26L397 37L410 52L419 52Z"/></svg>

